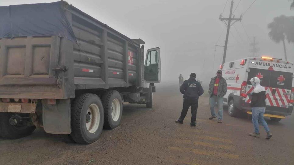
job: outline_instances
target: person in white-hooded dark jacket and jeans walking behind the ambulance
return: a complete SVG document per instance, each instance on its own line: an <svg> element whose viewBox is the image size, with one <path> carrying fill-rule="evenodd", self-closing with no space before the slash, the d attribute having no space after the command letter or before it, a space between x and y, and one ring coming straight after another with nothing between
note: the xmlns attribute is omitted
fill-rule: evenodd
<svg viewBox="0 0 294 165"><path fill-rule="evenodd" d="M257 77L250 79L252 86L254 87L250 106L252 107L252 123L254 125L254 132L249 133L250 136L259 137L259 125L258 120L262 123L265 132L267 133L266 139L270 139L273 134L268 128L268 124L263 118L265 112L265 89L260 85L260 80Z"/></svg>

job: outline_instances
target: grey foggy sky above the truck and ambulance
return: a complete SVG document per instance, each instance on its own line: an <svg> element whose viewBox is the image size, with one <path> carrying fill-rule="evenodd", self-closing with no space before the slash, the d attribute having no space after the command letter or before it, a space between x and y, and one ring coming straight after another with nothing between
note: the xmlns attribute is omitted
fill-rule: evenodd
<svg viewBox="0 0 294 165"><path fill-rule="evenodd" d="M0 0L0 6L49 2L55 1ZM179 74L187 79L191 72L195 72L198 79L207 82L215 76L222 62L223 47L215 45L224 45L226 27L219 20L219 15L224 11L222 15L229 16L231 0L66 2L131 39L141 38L146 42L145 51L160 47L162 82L178 81ZM269 38L267 25L274 17L293 16L294 10L290 10L291 2L256 0L249 8L252 2L254 0L234 1L233 14L235 18L239 18L243 13L241 22L244 28L240 22L231 27L226 62L253 56L249 49L254 36L260 49L256 56L267 55L285 59L282 42L275 43ZM288 61L292 62L293 44L286 43Z"/></svg>

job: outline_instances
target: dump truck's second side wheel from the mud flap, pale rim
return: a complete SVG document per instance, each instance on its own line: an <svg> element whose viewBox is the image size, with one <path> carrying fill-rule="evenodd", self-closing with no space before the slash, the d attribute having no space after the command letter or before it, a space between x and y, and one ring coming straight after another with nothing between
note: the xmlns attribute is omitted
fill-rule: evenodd
<svg viewBox="0 0 294 165"><path fill-rule="evenodd" d="M104 107L104 128L112 130L119 126L122 116L122 99L116 90L107 91L102 96Z"/></svg>

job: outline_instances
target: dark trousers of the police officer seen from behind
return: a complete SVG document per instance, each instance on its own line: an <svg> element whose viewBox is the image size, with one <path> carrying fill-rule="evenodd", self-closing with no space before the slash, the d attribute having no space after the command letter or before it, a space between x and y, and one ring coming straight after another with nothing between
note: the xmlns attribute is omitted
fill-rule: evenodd
<svg viewBox="0 0 294 165"><path fill-rule="evenodd" d="M179 118L179 121L183 121L187 115L188 109L191 106L191 124L196 123L196 115L197 115L197 109L198 109L198 97L188 97L184 99L183 102L183 110L181 113L181 116Z"/></svg>

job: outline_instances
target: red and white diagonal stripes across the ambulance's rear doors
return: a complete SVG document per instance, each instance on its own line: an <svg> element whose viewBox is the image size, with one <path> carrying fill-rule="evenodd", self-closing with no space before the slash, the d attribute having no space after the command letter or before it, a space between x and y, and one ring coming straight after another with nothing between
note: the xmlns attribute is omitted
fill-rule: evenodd
<svg viewBox="0 0 294 165"><path fill-rule="evenodd" d="M250 103L251 99L249 99L248 94L253 91L253 86L248 90L246 93L246 103ZM274 89L276 92L274 92ZM289 103L290 103L290 90L285 90L285 89L279 89L279 88L269 88L265 87L265 90L268 91L266 93L266 101L267 105L269 106L276 106L276 107L282 107L282 108L287 108ZM288 93L287 93L288 91ZM283 98L284 97L284 98Z"/></svg>

